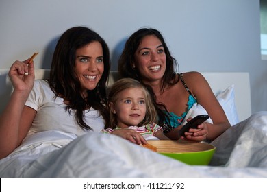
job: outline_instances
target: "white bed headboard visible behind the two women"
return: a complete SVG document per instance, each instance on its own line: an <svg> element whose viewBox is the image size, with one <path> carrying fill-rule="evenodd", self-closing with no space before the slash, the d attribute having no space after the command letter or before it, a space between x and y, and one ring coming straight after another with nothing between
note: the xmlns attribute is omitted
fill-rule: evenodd
<svg viewBox="0 0 267 192"><path fill-rule="evenodd" d="M12 92L12 84L8 78L9 69L0 69L0 112L3 111ZM246 72L201 72L206 78L215 95L224 91L227 87L235 86L235 103L240 121L251 115L251 88L249 73ZM36 69L36 79L49 78L49 69ZM120 77L117 71L111 71L108 87Z"/></svg>

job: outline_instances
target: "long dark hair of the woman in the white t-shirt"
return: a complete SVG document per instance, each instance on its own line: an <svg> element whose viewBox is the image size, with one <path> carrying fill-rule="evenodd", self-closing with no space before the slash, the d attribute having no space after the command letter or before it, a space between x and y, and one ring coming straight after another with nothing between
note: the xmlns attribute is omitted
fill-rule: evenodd
<svg viewBox="0 0 267 192"><path fill-rule="evenodd" d="M88 90L88 97L81 96L81 84L75 71L76 50L92 42L99 42L103 49L104 72L93 90ZM81 128L92 130L84 121L86 108L99 110L105 121L108 119L106 82L110 74L110 52L105 40L87 27L73 27L66 30L58 40L53 54L49 85L55 95L64 97L68 104L66 110L75 110L75 118Z"/></svg>

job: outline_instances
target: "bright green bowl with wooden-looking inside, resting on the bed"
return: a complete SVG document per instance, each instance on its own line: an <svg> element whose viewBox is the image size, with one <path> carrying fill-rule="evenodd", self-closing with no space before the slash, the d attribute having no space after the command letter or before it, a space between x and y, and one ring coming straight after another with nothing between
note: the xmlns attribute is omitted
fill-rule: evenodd
<svg viewBox="0 0 267 192"><path fill-rule="evenodd" d="M148 143L156 147L158 153L188 165L208 165L216 149L207 143L183 140L159 140L148 141Z"/></svg>

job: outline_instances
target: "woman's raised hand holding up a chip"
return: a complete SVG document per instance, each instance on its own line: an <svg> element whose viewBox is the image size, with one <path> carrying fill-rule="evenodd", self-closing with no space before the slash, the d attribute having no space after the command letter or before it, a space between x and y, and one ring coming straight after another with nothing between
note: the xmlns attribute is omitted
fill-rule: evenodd
<svg viewBox="0 0 267 192"><path fill-rule="evenodd" d="M16 60L8 73L14 90L31 91L34 86L34 62Z"/></svg>

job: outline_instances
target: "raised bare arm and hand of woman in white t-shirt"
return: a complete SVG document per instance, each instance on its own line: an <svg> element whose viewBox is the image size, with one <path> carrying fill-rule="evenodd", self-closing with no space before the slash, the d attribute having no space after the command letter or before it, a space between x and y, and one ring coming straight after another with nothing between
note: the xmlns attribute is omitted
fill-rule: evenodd
<svg viewBox="0 0 267 192"><path fill-rule="evenodd" d="M34 63L28 62L16 61L10 67L8 75L14 91L0 116L0 158L8 156L21 144L36 115L34 109L25 106L34 85Z"/></svg>

